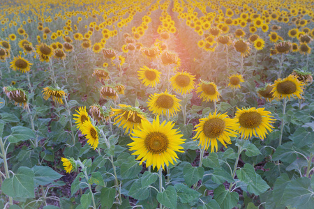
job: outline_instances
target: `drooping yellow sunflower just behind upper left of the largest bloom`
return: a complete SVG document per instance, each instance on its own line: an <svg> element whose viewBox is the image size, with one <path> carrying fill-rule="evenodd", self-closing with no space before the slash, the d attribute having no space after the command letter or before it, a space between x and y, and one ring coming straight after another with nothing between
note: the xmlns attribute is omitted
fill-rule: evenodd
<svg viewBox="0 0 314 209"><path fill-rule="evenodd" d="M126 129L126 132L132 132L134 129L142 128L142 122L147 121L147 118L138 107L132 107L126 104L119 104L118 109L111 108L113 112L111 117L114 117L114 125L120 123L120 126Z"/></svg>

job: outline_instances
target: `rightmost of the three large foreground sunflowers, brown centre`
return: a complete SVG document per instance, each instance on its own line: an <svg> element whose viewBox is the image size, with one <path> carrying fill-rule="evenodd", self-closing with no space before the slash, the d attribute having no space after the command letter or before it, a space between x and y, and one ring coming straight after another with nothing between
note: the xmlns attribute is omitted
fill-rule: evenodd
<svg viewBox="0 0 314 209"><path fill-rule="evenodd" d="M273 116L271 116L270 111L265 111L264 108L255 108L250 109L239 109L234 117L239 123L239 134L242 139L248 139L253 137L259 137L264 140L266 134L272 132L271 128L274 128L271 123L276 121Z"/></svg>

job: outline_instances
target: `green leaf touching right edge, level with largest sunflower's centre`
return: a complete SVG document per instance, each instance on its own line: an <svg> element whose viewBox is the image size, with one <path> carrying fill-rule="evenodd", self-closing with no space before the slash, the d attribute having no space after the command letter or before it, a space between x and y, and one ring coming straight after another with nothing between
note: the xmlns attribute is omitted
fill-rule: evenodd
<svg viewBox="0 0 314 209"><path fill-rule="evenodd" d="M298 148L314 143L314 132L308 132L304 127L299 127L290 137Z"/></svg>

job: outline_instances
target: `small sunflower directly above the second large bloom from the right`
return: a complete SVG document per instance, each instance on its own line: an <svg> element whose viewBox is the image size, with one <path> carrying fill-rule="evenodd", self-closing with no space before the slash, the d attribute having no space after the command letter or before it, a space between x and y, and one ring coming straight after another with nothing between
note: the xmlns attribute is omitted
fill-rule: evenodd
<svg viewBox="0 0 314 209"><path fill-rule="evenodd" d="M218 101L220 97L216 84L202 80L197 86L196 93L201 93L199 97L203 100L203 102Z"/></svg>

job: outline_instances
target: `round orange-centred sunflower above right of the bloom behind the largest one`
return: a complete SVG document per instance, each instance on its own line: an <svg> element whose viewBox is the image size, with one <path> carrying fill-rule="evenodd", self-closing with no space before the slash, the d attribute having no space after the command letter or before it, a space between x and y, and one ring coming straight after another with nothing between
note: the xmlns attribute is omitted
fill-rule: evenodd
<svg viewBox="0 0 314 209"><path fill-rule="evenodd" d="M190 75L189 72L177 72L176 75L170 78L172 88L177 93L190 93L194 88L195 75Z"/></svg>

